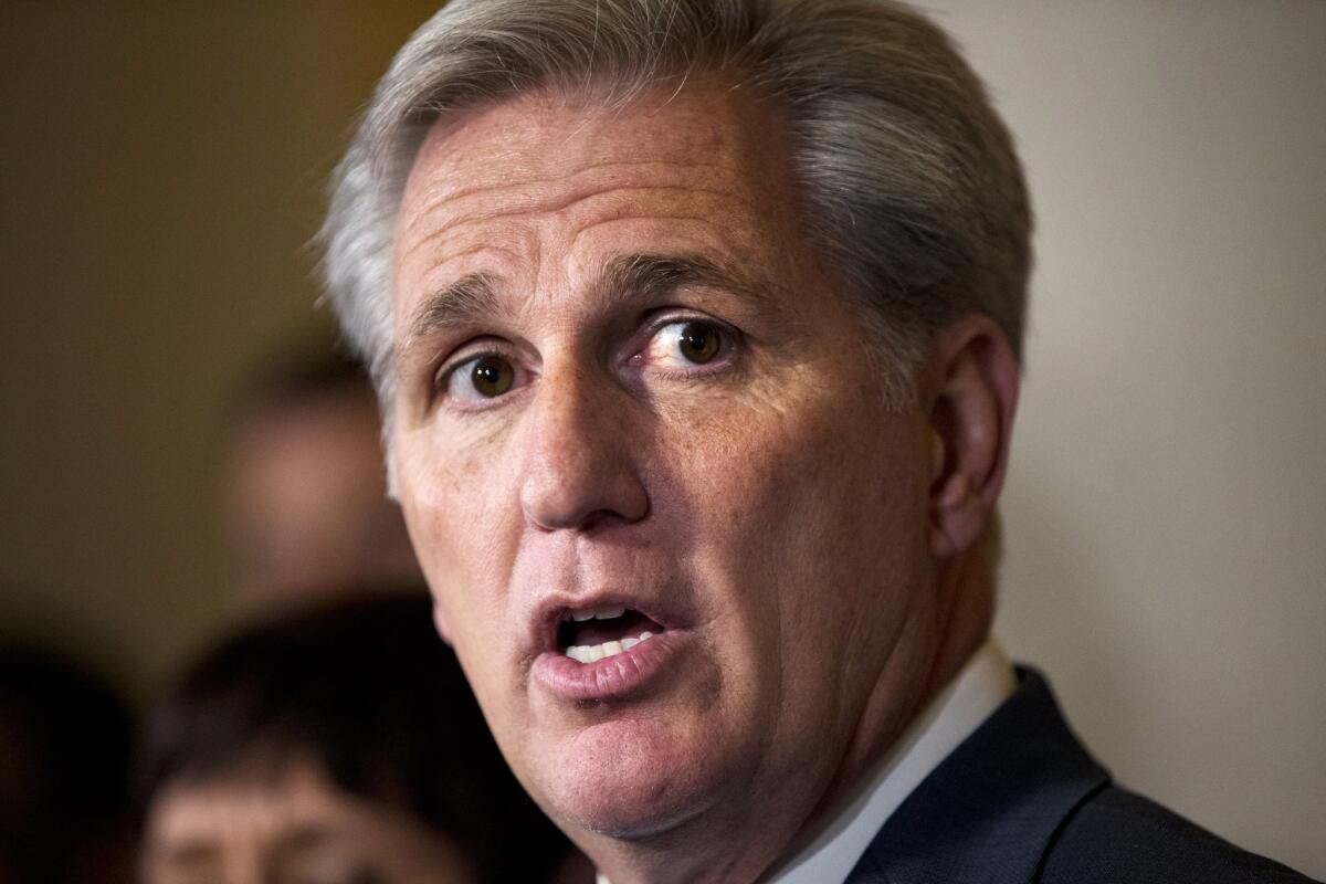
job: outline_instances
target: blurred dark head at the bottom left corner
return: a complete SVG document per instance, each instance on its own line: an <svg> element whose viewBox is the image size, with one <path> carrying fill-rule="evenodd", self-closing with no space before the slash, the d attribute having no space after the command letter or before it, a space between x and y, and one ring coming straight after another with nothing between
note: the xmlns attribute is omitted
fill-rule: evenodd
<svg viewBox="0 0 1326 884"><path fill-rule="evenodd" d="M0 649L0 883L130 880L133 732L99 677L46 651Z"/></svg>

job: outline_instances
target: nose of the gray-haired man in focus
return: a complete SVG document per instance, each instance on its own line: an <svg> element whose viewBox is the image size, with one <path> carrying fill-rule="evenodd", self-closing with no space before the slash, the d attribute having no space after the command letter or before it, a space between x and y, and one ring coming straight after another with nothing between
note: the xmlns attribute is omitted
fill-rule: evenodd
<svg viewBox="0 0 1326 884"><path fill-rule="evenodd" d="M636 522L650 500L625 396L578 371L545 374L525 427L521 508L545 531Z"/></svg>

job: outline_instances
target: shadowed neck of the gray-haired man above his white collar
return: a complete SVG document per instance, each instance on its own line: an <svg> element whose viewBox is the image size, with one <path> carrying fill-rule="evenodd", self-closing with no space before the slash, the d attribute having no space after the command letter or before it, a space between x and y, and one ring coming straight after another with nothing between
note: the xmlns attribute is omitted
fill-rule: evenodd
<svg viewBox="0 0 1326 884"><path fill-rule="evenodd" d="M752 783L740 815L724 803L648 838L589 835L581 847L611 884L758 880L835 819L862 777L985 641L993 598L993 571L984 557L969 551L939 563L910 618L918 626L900 632L854 737L822 770L782 778L772 785L776 794Z"/></svg>

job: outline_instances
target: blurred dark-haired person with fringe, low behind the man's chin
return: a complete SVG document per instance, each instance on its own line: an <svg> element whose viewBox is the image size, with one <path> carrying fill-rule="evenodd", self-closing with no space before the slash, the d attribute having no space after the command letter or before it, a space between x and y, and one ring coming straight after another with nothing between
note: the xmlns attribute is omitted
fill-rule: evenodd
<svg viewBox="0 0 1326 884"><path fill-rule="evenodd" d="M361 595L241 631L151 716L145 884L587 880L499 755L427 598Z"/></svg>

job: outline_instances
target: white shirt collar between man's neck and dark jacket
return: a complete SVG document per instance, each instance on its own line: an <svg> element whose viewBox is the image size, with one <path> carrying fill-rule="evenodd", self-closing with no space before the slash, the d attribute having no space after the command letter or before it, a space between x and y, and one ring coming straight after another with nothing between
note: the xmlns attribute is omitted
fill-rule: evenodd
<svg viewBox="0 0 1326 884"><path fill-rule="evenodd" d="M845 881L899 804L1017 688L994 639L907 726L863 785L819 835L764 880L768 884ZM598 884L609 884L602 875Z"/></svg>

